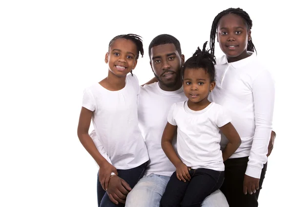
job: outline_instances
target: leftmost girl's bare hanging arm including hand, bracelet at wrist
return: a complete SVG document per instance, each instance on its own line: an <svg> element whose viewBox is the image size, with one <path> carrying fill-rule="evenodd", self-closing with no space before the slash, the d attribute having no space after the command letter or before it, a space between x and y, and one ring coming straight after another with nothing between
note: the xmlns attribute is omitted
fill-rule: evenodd
<svg viewBox="0 0 293 207"><path fill-rule="evenodd" d="M88 134L92 114L92 111L82 107L78 123L77 135L86 151L98 163L100 167L99 181L102 184L104 190L107 190L111 173L114 172L116 175L118 175L118 173L116 168L100 154L94 144L94 141Z"/></svg>

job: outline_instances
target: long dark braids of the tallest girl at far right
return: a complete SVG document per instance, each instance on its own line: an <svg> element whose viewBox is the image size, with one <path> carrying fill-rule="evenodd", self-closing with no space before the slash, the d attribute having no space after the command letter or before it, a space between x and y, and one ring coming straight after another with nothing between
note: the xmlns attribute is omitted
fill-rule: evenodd
<svg viewBox="0 0 293 207"><path fill-rule="evenodd" d="M218 27L219 21L223 16L225 16L227 14L235 14L235 15L240 16L246 22L247 29L251 30L252 20L251 20L250 16L248 15L248 13L246 11L244 11L243 9L229 8L229 9L226 9L226 10L220 12L213 20L213 22L211 24L211 29L210 29L209 46L210 46L210 50L211 50L212 55L214 55L214 53L215 53L215 38L217 35L217 27ZM248 41L247 50L251 51L251 52L256 51L255 46L252 43L252 39L250 41Z"/></svg>

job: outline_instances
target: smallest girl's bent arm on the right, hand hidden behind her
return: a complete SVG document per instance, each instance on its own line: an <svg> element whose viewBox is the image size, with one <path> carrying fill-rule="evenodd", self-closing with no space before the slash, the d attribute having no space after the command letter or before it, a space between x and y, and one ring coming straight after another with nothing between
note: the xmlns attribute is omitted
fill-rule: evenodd
<svg viewBox="0 0 293 207"><path fill-rule="evenodd" d="M219 128L229 141L229 143L226 145L225 149L222 152L223 161L226 161L240 146L241 138L231 122Z"/></svg>

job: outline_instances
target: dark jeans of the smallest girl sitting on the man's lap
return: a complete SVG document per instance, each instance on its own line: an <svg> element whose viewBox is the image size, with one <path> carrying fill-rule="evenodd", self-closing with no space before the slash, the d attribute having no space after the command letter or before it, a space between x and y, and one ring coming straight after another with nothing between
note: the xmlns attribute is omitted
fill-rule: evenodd
<svg viewBox="0 0 293 207"><path fill-rule="evenodd" d="M209 194L218 190L224 181L224 171L211 169L189 170L190 181L179 181L174 172L161 199L161 207L200 207Z"/></svg>

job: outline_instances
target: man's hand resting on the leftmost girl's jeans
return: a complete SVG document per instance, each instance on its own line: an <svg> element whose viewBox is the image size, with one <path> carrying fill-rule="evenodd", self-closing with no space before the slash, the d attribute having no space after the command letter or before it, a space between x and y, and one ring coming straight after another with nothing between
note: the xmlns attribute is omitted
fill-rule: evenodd
<svg viewBox="0 0 293 207"><path fill-rule="evenodd" d="M108 185L107 194L110 200L118 205L119 203L125 204L126 195L131 190L129 184L118 176L113 176Z"/></svg>

